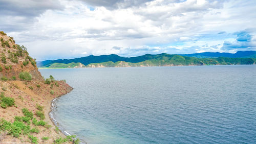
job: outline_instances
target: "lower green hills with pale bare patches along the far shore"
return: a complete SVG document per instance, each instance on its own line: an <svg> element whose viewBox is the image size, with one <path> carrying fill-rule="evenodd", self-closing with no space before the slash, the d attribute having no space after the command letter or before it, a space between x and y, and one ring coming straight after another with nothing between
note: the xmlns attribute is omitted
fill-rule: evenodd
<svg viewBox="0 0 256 144"><path fill-rule="evenodd" d="M148 56L150 57L150 56ZM153 55L150 60L145 60L142 62L124 62L124 61L107 61L100 63L90 63L86 67L134 67L134 66L178 66L178 65L237 65L237 64L255 64L256 59L254 58L195 58L195 57L184 57L180 55ZM53 63L48 65L48 68L63 68L64 65ZM62 67L57 67L56 65L61 65ZM65 67L68 68L68 67Z"/></svg>

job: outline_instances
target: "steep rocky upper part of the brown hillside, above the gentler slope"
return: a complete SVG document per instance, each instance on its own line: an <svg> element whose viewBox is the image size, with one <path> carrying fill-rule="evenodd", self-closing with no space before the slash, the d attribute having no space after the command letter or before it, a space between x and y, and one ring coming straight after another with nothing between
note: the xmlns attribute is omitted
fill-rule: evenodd
<svg viewBox="0 0 256 144"><path fill-rule="evenodd" d="M21 72L27 71L32 80L43 80L36 62L29 56L25 46L15 44L13 37L0 32L0 78L18 80Z"/></svg>

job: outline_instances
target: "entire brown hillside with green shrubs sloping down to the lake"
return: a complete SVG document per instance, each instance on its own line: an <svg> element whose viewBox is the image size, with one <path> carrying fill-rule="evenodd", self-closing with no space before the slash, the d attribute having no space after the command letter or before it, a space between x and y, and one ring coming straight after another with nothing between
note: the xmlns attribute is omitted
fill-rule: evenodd
<svg viewBox="0 0 256 144"><path fill-rule="evenodd" d="M44 80L25 46L4 32L0 38L0 143L72 143L48 115L51 101L72 87Z"/></svg>

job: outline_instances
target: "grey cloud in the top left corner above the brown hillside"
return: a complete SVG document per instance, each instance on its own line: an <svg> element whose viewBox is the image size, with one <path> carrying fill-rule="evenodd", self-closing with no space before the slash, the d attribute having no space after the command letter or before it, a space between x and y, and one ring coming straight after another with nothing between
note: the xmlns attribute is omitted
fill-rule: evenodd
<svg viewBox="0 0 256 144"><path fill-rule="evenodd" d="M29 29L36 17L47 10L62 10L59 1L46 0L2 0L0 1L0 28L5 31L22 31Z"/></svg>

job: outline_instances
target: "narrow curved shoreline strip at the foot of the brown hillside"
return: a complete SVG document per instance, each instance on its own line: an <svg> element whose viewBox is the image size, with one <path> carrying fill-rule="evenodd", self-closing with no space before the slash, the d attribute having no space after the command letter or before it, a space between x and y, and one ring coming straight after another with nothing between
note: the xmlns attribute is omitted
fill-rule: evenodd
<svg viewBox="0 0 256 144"><path fill-rule="evenodd" d="M73 88L71 89L71 91L72 91L72 90L73 90ZM69 91L69 92L71 92L71 91ZM65 93L65 94L68 94L69 92L67 92L67 93ZM65 130L65 128L63 128L61 125L58 124L57 120L54 118L54 113L53 113L53 111L57 109L57 108L56 108L56 105L55 105L55 100L59 99L60 97L62 97L62 96L65 95L65 94L61 94L61 95L59 95L58 97L56 97L56 98L54 98L54 99L51 100L51 102L50 102L50 110L48 111L48 116L49 116L49 118L50 118L52 124L53 124L54 126L58 127L59 131L60 131L63 135L65 135L65 136L70 136L71 134L68 133L68 132ZM76 138L77 138L77 137L76 137ZM73 140L76 140L76 138L73 138ZM81 143L81 144L87 144L86 141L83 141L83 140L81 140L81 139L80 139L80 142L79 142L79 143Z"/></svg>

